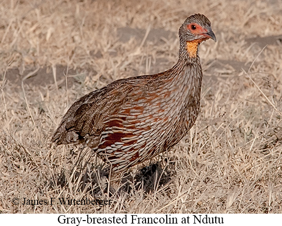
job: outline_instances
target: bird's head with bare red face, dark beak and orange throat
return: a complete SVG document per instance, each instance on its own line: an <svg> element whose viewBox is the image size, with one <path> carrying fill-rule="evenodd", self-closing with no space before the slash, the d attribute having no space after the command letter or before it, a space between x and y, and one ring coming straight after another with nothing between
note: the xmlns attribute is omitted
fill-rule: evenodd
<svg viewBox="0 0 282 226"><path fill-rule="evenodd" d="M196 57L198 45L207 39L216 42L215 34L211 29L211 22L203 14L189 16L179 28L180 40L186 43L190 57Z"/></svg>

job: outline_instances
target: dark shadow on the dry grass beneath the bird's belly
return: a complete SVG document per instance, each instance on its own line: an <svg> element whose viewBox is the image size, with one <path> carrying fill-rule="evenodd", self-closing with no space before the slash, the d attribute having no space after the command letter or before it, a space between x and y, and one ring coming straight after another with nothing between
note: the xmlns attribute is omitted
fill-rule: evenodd
<svg viewBox="0 0 282 226"><path fill-rule="evenodd" d="M97 163L96 155L91 154L89 148L81 148L79 152L74 156L77 162L72 170L62 170L57 175L50 176L47 181L49 190L75 184L80 192L91 193L93 197L103 199L130 194L132 191L153 193L159 189L169 189L168 185L174 178L175 161L164 159L139 170L130 169L121 174L110 175L110 167L105 163Z"/></svg>

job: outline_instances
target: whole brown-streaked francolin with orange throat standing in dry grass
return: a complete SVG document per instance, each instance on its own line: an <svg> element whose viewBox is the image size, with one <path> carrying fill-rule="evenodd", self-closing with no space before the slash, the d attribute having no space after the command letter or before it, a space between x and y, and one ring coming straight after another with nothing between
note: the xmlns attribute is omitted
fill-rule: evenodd
<svg viewBox="0 0 282 226"><path fill-rule="evenodd" d="M199 45L216 37L203 14L179 28L179 57L169 70L116 80L76 100L51 142L86 144L114 173L170 150L199 114L202 68Z"/></svg>

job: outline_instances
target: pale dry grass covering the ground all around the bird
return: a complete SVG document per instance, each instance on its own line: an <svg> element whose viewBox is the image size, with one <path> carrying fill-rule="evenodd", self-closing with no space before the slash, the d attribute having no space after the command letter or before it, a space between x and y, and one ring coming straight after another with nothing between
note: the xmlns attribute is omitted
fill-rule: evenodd
<svg viewBox="0 0 282 226"><path fill-rule="evenodd" d="M281 5L2 0L0 212L282 213ZM134 168L111 206L12 205L14 197L108 198L100 160L92 156L80 172L88 150L55 147L50 136L83 94L170 68L177 30L195 12L211 20L218 42L200 46L205 76L196 124L174 150L145 163L157 170L142 176L142 166ZM124 40L123 27L139 37Z"/></svg>

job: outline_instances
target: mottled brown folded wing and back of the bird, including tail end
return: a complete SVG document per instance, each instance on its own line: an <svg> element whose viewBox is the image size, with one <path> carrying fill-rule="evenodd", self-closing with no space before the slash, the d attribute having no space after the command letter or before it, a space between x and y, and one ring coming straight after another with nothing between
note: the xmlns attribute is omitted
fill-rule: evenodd
<svg viewBox="0 0 282 226"><path fill-rule="evenodd" d="M104 122L120 107L136 98L130 93L144 92L147 79L133 77L117 80L108 86L81 97L69 108L51 141L57 144L85 142L91 137L97 145L98 136L104 129Z"/></svg>

